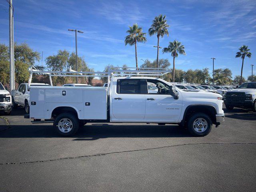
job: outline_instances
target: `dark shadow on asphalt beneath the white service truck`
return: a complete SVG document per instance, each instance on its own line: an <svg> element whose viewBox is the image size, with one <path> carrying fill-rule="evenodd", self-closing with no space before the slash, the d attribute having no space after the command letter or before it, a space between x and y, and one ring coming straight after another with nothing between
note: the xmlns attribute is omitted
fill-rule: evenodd
<svg viewBox="0 0 256 192"><path fill-rule="evenodd" d="M53 138L61 137L51 125L11 126L0 132L0 138ZM99 138L157 138L157 137L191 137L186 130L176 125L86 125L78 130L74 140L97 140Z"/></svg>

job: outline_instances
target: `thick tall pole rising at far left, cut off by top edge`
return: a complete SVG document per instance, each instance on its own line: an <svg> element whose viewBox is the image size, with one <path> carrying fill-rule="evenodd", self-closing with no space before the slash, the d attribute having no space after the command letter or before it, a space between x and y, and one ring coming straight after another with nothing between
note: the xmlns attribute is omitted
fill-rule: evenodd
<svg viewBox="0 0 256 192"><path fill-rule="evenodd" d="M13 37L13 6L12 0L8 0L9 2L9 38L10 38L10 92L15 89L14 82L14 37Z"/></svg>

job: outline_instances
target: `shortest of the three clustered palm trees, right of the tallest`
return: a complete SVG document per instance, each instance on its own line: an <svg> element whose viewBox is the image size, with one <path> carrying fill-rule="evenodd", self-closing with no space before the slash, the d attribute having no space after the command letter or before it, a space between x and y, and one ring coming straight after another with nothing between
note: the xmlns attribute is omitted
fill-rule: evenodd
<svg viewBox="0 0 256 192"><path fill-rule="evenodd" d="M186 55L185 47L181 44L181 42L178 42L177 40L174 40L173 42L169 42L168 47L163 48L163 53L171 53L173 57L173 70L172 70L172 81L175 80L175 58L178 57L179 54Z"/></svg>

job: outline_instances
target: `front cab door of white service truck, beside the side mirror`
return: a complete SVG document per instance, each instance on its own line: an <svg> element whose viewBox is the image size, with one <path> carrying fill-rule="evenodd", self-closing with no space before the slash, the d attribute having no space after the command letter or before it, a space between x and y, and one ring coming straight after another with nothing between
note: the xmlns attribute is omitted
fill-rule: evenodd
<svg viewBox="0 0 256 192"><path fill-rule="evenodd" d="M164 85L158 86L158 93L147 93L145 121L148 122L178 122L182 111L182 95L174 99L170 95L170 86L160 80L148 79L148 82ZM161 91L161 88L164 90Z"/></svg>

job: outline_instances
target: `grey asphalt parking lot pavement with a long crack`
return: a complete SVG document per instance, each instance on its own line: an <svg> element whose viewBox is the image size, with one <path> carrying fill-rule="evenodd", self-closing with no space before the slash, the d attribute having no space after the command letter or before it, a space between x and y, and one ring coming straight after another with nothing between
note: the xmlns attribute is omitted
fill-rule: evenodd
<svg viewBox="0 0 256 192"><path fill-rule="evenodd" d="M61 138L18 109L0 132L0 191L255 192L256 113L224 111L200 138L176 125L98 123Z"/></svg>

